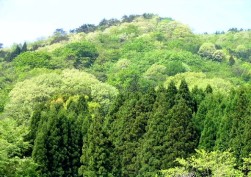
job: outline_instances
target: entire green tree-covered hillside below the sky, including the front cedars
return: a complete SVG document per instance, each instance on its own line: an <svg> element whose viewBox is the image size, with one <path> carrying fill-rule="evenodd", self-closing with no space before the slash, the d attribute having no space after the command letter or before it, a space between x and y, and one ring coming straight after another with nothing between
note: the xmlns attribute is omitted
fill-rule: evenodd
<svg viewBox="0 0 251 177"><path fill-rule="evenodd" d="M0 68L0 176L251 176L251 30L123 16Z"/></svg>

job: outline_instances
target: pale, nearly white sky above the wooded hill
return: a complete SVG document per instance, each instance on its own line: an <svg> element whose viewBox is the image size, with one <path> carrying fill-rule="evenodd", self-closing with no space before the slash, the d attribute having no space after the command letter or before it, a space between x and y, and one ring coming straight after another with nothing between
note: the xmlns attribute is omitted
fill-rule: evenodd
<svg viewBox="0 0 251 177"><path fill-rule="evenodd" d="M251 0L0 0L0 43L31 42L82 24L154 13L195 33L251 29Z"/></svg>

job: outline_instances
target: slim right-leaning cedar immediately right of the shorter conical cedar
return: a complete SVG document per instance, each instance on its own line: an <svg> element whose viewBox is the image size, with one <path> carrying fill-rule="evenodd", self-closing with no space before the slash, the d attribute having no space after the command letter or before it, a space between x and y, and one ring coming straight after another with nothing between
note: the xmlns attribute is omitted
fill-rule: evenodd
<svg viewBox="0 0 251 177"><path fill-rule="evenodd" d="M131 176L134 173L132 167L133 158L136 156L137 141L132 127L136 119L136 103L139 93L130 93L119 111L117 119L112 123L112 138L115 145L115 164L113 173L115 176Z"/></svg>

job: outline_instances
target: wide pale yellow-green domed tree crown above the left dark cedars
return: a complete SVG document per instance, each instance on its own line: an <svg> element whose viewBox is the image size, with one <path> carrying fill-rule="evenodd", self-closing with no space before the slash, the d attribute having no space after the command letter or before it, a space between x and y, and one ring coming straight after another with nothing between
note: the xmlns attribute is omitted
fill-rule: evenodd
<svg viewBox="0 0 251 177"><path fill-rule="evenodd" d="M37 103L46 102L59 93L89 95L107 110L117 91L114 87L101 83L93 75L78 70L42 74L15 85L10 92L5 113L23 121L29 118Z"/></svg>

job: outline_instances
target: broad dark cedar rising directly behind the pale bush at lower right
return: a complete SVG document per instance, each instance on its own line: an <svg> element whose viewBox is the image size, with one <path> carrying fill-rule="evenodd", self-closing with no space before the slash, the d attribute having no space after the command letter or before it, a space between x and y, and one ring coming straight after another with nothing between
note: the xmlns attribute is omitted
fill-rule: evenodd
<svg viewBox="0 0 251 177"><path fill-rule="evenodd" d="M166 153L161 169L173 167L176 158L186 158L198 145L198 135L192 121L192 110L187 101L180 98L170 111L170 123L164 137Z"/></svg>

